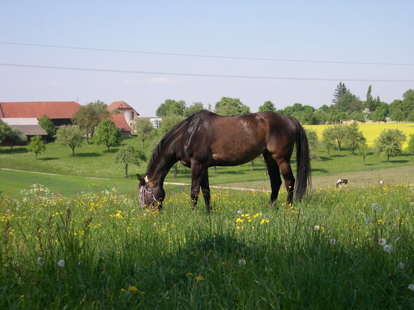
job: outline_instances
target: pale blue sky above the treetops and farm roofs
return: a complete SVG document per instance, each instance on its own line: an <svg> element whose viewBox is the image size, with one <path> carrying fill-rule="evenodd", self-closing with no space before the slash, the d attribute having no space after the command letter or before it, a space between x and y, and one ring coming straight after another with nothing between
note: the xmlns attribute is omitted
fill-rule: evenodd
<svg viewBox="0 0 414 310"><path fill-rule="evenodd" d="M0 1L0 102L332 103L414 89L414 1Z"/></svg>

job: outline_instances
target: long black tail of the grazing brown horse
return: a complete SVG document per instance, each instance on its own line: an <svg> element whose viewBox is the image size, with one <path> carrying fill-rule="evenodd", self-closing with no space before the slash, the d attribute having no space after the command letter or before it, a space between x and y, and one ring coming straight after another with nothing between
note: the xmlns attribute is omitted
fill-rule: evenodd
<svg viewBox="0 0 414 310"><path fill-rule="evenodd" d="M306 190L311 187L311 157L309 156L308 138L305 129L296 123L296 200L301 200Z"/></svg>

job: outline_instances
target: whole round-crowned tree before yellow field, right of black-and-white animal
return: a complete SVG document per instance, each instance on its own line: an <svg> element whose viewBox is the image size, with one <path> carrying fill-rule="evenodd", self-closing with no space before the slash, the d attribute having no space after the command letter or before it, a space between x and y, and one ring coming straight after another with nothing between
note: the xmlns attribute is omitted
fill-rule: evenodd
<svg viewBox="0 0 414 310"><path fill-rule="evenodd" d="M399 155L403 151L404 141L406 141L406 135L403 131L399 129L384 129L374 143L377 153L386 155L387 162L389 162L390 156Z"/></svg>

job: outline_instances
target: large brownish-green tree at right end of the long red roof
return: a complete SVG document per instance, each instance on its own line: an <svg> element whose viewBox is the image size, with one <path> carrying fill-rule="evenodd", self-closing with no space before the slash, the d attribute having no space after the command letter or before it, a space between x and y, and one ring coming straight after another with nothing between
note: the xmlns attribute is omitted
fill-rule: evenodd
<svg viewBox="0 0 414 310"><path fill-rule="evenodd" d="M105 118L110 117L108 106L102 101L95 101L82 106L72 117L73 124L76 124L87 134L87 143L89 136L93 137L98 124Z"/></svg>

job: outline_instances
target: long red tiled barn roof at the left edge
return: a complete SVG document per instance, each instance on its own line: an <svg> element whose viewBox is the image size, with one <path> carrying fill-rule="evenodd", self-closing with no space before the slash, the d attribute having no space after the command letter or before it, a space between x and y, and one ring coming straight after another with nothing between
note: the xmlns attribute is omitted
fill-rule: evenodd
<svg viewBox="0 0 414 310"><path fill-rule="evenodd" d="M75 101L0 102L0 117L36 117L51 119L72 117L82 105Z"/></svg>

